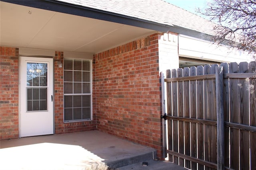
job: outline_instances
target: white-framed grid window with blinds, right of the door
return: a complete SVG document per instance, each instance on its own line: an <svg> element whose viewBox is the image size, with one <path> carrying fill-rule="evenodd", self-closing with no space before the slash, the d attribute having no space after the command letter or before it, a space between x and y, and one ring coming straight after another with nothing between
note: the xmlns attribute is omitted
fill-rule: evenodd
<svg viewBox="0 0 256 170"><path fill-rule="evenodd" d="M91 61L64 59L64 122L91 120Z"/></svg>

